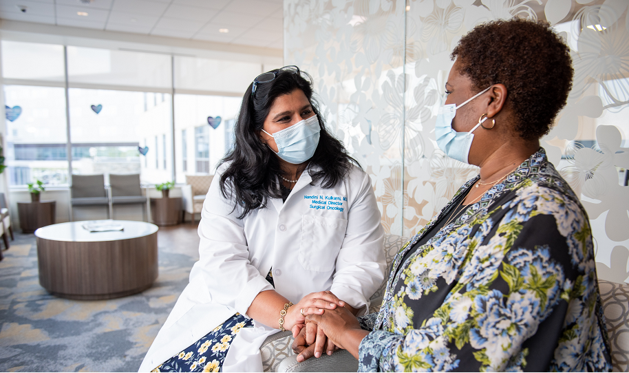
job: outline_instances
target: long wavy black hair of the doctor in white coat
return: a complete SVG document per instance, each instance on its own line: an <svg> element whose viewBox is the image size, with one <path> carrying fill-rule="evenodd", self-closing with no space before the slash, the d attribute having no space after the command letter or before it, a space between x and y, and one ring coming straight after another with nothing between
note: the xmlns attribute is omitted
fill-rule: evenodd
<svg viewBox="0 0 629 373"><path fill-rule="evenodd" d="M235 146L219 163L219 167L228 163L220 176L220 190L224 198L235 201L234 210L237 206L241 207L239 219L255 209L266 208L269 198L281 198L278 180L282 170L279 160L258 136L270 107L279 96L301 89L319 118L319 145L308 164L311 184L320 182L323 189L330 189L345 178L352 164L360 167L343 144L326 130L317 100L312 97L312 77L309 74L279 70L273 81L257 83L254 97L251 96L252 86L253 83L242 97L234 129ZM318 166L319 171L313 171L312 166Z"/></svg>

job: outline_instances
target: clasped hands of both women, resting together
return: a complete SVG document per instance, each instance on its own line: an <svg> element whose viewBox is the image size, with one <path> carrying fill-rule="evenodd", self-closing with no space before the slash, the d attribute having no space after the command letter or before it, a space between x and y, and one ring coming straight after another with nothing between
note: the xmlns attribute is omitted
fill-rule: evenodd
<svg viewBox="0 0 629 373"><path fill-rule="evenodd" d="M299 354L297 361L318 358L324 349L328 355L339 348L357 355L360 340L367 332L356 320L356 311L332 292L312 293L291 308L300 316L290 328L295 338L292 350ZM356 333L363 334L357 343L353 341Z"/></svg>

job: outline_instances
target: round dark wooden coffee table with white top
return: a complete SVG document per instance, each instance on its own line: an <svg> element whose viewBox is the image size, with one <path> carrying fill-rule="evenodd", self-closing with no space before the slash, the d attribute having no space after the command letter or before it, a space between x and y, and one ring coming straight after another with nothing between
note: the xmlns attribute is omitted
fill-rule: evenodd
<svg viewBox="0 0 629 373"><path fill-rule="evenodd" d="M110 299L150 288L158 277L158 227L109 220L124 231L89 232L87 222L35 231L39 284L58 297Z"/></svg>

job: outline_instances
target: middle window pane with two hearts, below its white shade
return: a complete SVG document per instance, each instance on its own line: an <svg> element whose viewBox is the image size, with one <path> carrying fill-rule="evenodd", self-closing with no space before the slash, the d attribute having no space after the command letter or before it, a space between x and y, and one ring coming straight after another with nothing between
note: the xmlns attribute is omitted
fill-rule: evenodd
<svg viewBox="0 0 629 373"><path fill-rule="evenodd" d="M145 110L145 97L158 95L80 88L70 88L69 94L70 139L73 149L83 149L76 156L73 151L72 173L140 173L147 184L171 180L165 147L170 136L170 100L158 100L156 105L153 100ZM156 139L156 147L149 146L142 155L138 148L146 146L142 142L146 136ZM147 167L141 158L154 159L149 163L154 167Z"/></svg>

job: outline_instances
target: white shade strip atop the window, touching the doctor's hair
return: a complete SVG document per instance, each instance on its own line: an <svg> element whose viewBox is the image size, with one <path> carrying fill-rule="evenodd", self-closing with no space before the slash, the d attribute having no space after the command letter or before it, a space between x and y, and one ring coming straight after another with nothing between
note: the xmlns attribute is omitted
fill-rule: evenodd
<svg viewBox="0 0 629 373"><path fill-rule="evenodd" d="M262 65L207 58L175 57L175 88L198 91L233 92L242 96Z"/></svg>

